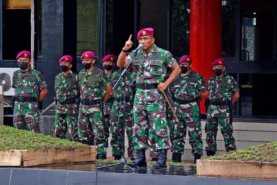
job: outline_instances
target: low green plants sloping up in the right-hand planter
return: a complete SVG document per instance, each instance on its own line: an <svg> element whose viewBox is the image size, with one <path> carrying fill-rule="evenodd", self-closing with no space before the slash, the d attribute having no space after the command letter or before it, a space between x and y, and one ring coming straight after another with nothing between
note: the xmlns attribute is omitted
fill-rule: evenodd
<svg viewBox="0 0 277 185"><path fill-rule="evenodd" d="M203 159L277 162L277 141L228 153L220 153L218 156L203 156Z"/></svg>

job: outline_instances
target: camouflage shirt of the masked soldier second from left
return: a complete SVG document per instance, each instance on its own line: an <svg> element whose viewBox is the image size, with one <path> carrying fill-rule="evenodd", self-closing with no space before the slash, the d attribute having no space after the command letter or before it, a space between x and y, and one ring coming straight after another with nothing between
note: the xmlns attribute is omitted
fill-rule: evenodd
<svg viewBox="0 0 277 185"><path fill-rule="evenodd" d="M77 114L77 105L76 103L72 104L60 104L60 101L65 101L66 99L79 98L79 78L76 73L73 73L71 70L67 75L60 73L55 78L55 87L56 92L56 113L58 114Z"/></svg>

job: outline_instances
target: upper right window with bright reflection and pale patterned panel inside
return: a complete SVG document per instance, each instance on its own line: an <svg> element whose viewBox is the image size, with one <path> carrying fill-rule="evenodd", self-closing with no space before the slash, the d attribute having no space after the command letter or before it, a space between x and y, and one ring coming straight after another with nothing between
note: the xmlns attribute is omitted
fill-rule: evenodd
<svg viewBox="0 0 277 185"><path fill-rule="evenodd" d="M242 0L240 60L273 60L274 7L274 0Z"/></svg>

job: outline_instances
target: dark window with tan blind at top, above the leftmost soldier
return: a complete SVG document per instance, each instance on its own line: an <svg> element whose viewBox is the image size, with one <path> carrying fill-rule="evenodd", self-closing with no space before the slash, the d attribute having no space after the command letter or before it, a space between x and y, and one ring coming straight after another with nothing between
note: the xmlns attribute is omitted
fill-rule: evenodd
<svg viewBox="0 0 277 185"><path fill-rule="evenodd" d="M3 1L3 60L16 60L20 51L31 50L30 2Z"/></svg>

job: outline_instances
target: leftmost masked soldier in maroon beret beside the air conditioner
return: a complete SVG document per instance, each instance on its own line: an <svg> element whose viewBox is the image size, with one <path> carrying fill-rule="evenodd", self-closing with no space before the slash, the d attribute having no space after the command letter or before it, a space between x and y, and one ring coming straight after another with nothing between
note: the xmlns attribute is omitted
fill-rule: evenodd
<svg viewBox="0 0 277 185"><path fill-rule="evenodd" d="M44 99L47 85L42 73L30 66L31 52L21 51L16 59L20 69L14 71L12 76L15 92L14 128L40 133L38 103Z"/></svg>

